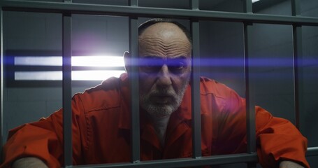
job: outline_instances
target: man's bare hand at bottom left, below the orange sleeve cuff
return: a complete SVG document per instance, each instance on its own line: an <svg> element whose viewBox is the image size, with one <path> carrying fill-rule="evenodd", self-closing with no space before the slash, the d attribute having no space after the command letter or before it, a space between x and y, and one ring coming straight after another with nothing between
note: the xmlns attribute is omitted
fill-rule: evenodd
<svg viewBox="0 0 318 168"><path fill-rule="evenodd" d="M21 159L15 160L15 162L13 162L12 167L13 168L20 168L20 167L48 168L48 166L45 165L45 163L42 160L38 158L34 158L34 157L21 158Z"/></svg>

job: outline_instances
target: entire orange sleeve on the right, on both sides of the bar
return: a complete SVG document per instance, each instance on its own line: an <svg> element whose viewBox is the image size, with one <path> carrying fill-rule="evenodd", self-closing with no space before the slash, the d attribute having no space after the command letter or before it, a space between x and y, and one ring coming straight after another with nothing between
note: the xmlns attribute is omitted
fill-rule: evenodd
<svg viewBox="0 0 318 168"><path fill-rule="evenodd" d="M245 99L231 92L228 105L218 117L219 150L217 154L244 153L246 151ZM278 167L281 160L298 162L310 167L305 153L307 139L289 120L273 117L268 111L256 106L256 147L262 167Z"/></svg>

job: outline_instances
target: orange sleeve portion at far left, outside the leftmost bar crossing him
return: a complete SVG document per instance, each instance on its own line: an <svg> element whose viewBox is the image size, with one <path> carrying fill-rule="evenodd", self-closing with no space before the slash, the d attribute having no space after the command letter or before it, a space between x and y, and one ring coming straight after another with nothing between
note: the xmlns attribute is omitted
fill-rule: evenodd
<svg viewBox="0 0 318 168"><path fill-rule="evenodd" d="M54 116L60 116L60 113L50 118ZM29 156L40 158L48 167L60 167L58 158L62 156L62 141L59 137L62 135L54 132L50 118L10 130L8 141L3 146L4 162L1 167L10 167L18 158Z"/></svg>

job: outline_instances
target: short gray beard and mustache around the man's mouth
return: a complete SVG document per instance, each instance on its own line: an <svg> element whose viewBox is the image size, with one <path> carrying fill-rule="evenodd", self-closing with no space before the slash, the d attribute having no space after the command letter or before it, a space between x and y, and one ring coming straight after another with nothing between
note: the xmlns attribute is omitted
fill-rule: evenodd
<svg viewBox="0 0 318 168"><path fill-rule="evenodd" d="M180 90L177 90L177 92L175 92L172 87L169 87L168 89L153 90L148 93L140 92L140 106L145 109L145 111L147 111L147 113L149 113L152 117L170 116L171 113L177 111L179 108L183 96L185 95L185 90L187 89L189 79L190 78L188 78L185 83L182 83L182 87ZM173 100L168 104L156 104L150 99L153 94L168 94L173 97Z"/></svg>

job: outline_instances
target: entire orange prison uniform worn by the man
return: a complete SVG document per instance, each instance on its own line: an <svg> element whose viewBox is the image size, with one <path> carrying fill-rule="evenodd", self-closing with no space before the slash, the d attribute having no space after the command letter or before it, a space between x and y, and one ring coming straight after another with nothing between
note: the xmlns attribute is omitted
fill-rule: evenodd
<svg viewBox="0 0 318 168"><path fill-rule="evenodd" d="M215 80L201 78L202 155L245 153L245 99ZM73 164L129 162L130 91L127 74L75 94L72 101ZM1 167L17 158L35 156L49 167L63 163L62 109L48 118L10 131ZM157 160L191 157L191 87L178 111L171 114L164 146L145 111L140 111L140 158ZM307 139L288 120L256 107L256 145L263 167L279 160L305 160Z"/></svg>

